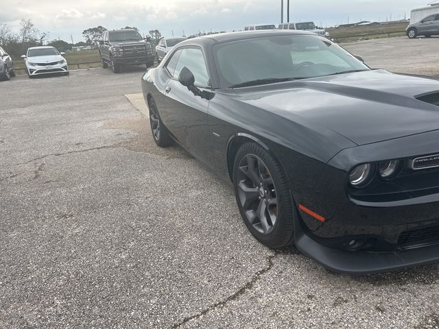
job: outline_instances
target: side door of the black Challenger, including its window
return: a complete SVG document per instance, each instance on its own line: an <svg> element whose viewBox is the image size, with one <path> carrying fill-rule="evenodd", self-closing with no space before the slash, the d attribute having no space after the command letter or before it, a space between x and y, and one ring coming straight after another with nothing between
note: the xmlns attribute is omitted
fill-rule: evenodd
<svg viewBox="0 0 439 329"><path fill-rule="evenodd" d="M204 54L200 48L188 47L174 53L167 66L178 56L175 69L168 67L171 75L163 93L167 122L165 125L177 141L186 147L196 158L206 161L209 157L210 140L207 122L209 97L194 95L187 87L180 84L178 75L187 67L195 77L195 87L209 92L210 80L206 69Z"/></svg>

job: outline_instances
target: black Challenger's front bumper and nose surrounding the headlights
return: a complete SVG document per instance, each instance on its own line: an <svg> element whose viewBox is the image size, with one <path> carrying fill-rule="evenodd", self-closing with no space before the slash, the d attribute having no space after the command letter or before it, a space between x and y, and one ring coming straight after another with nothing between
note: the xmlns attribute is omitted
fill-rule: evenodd
<svg viewBox="0 0 439 329"><path fill-rule="evenodd" d="M429 169L429 180L422 177L426 173L414 173L402 178L410 178L409 184L390 182L401 189L398 193L383 188L381 194L352 195L346 189L353 161L354 165L368 162L371 155L381 161L438 154L438 138L436 130L337 154L322 171L312 195L295 195L296 204L325 218L322 223L300 210L298 249L341 273L377 273L438 261L439 169Z"/></svg>

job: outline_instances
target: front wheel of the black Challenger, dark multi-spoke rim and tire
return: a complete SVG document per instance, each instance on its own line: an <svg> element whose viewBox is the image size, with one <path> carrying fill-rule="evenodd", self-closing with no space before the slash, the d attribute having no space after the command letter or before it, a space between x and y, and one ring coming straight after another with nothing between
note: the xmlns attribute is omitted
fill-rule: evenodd
<svg viewBox="0 0 439 329"><path fill-rule="evenodd" d="M241 217L260 243L270 248L294 243L295 206L285 173L268 151L256 143L241 145L233 164L233 186Z"/></svg>

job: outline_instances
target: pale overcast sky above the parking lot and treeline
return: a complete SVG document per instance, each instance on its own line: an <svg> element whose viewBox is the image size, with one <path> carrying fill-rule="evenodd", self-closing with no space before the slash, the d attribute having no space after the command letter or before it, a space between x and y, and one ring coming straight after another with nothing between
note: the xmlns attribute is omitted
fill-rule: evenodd
<svg viewBox="0 0 439 329"><path fill-rule="evenodd" d="M203 31L232 31L251 23L281 21L281 0L5 0L0 23L18 31L23 17L32 19L49 39L82 41L82 31L102 25L107 29L134 25L147 34L163 36ZM410 10L433 0L290 0L289 21L314 21L331 26L359 20L410 18ZM3 2L3 1L2 1ZM285 7L286 7L286 2ZM286 8L285 8L286 9ZM286 14L285 14L286 17Z"/></svg>

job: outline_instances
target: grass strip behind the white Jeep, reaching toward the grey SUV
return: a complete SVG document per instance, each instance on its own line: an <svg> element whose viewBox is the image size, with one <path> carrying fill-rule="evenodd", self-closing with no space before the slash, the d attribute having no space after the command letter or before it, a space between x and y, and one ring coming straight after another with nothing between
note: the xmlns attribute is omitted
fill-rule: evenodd
<svg viewBox="0 0 439 329"><path fill-rule="evenodd" d="M405 36L407 22L390 23L375 26L353 26L353 27L333 27L327 29L337 42L353 42L358 40L369 40L377 38L388 38L389 36ZM368 35L376 34L376 35Z"/></svg>

